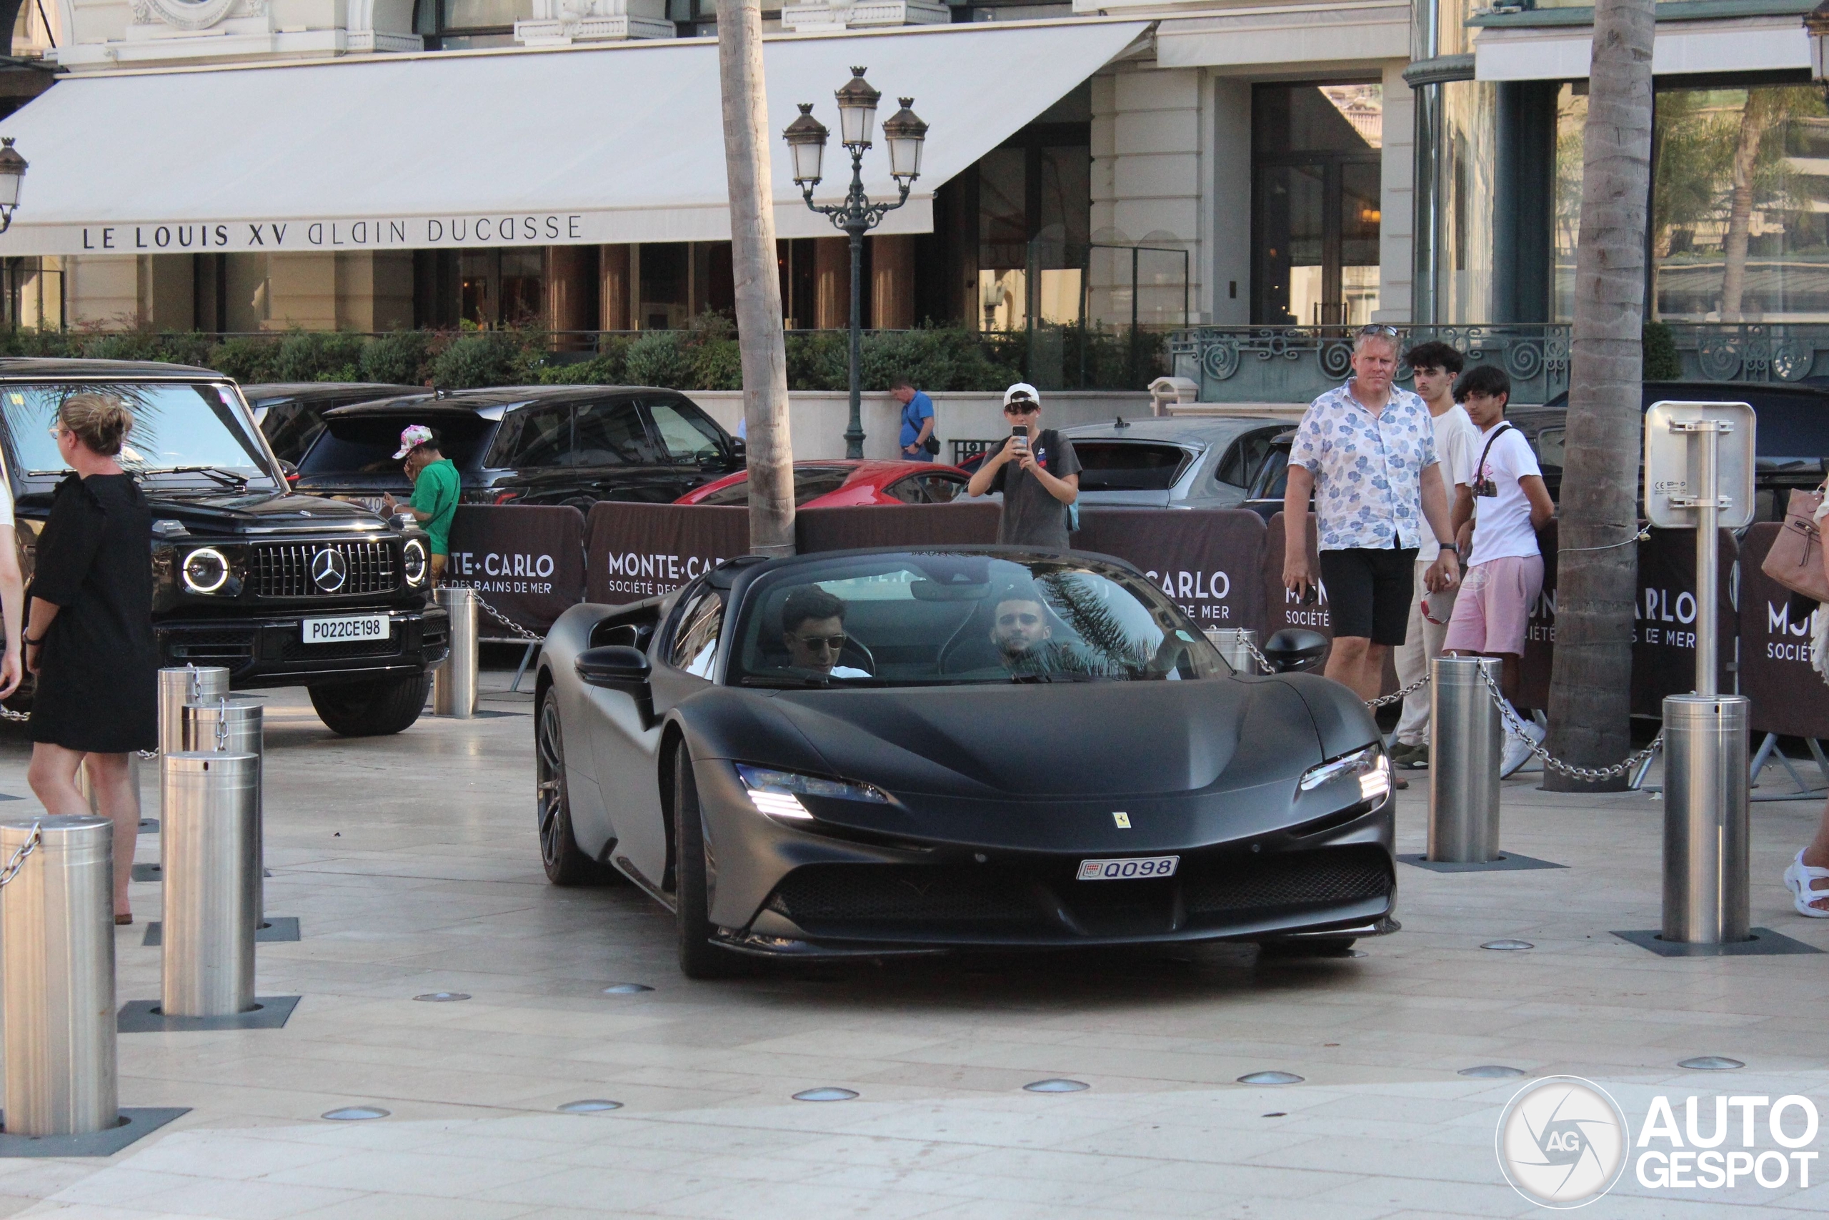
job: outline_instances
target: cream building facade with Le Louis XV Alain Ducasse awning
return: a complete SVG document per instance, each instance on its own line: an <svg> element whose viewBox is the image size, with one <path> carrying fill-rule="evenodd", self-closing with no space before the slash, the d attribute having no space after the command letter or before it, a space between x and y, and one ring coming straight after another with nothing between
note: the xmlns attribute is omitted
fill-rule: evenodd
<svg viewBox="0 0 1829 1220"><path fill-rule="evenodd" d="M1657 5L1655 318L1829 322L1829 112L1811 82L1807 7ZM869 326L1569 316L1588 7L797 0L766 16L774 108L801 93L823 102L841 79L823 64L869 62L885 93L914 91L933 123L916 198L865 243ZM7 311L26 326L223 333L688 326L733 304L704 75L713 42L708 0L27 4L15 49L60 75L0 121L33 161L18 221L0 236ZM594 57L589 71L580 55ZM386 73L358 70L382 60ZM925 68L896 71L907 64ZM565 95L567 73L626 88ZM95 198L93 181L75 179L108 181L134 150L88 139L84 115L99 112L80 90L115 112L144 102L146 124L123 139L179 161L198 148L159 106L214 97L232 113L265 97L285 113L223 135L240 146L201 150L188 183L148 192L117 176ZM830 102L819 112L836 128ZM91 146L71 154L71 137ZM516 161L523 152L563 172ZM843 326L845 241L819 236L823 221L783 185L785 150L775 159L785 322ZM834 146L821 196L840 159ZM521 181L494 198L529 223L490 221L476 177L497 168ZM342 210L335 190L307 188L338 176L360 196ZM230 177L236 188L219 192ZM684 194L669 199L675 179ZM534 223L547 214L587 219ZM364 221L388 240L214 241L221 225L234 238L236 225L260 236Z"/></svg>

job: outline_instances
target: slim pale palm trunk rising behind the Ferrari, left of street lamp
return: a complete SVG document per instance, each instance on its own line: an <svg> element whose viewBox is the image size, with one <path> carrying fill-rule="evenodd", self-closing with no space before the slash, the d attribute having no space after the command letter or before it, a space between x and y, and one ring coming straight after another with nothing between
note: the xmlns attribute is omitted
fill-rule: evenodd
<svg viewBox="0 0 1829 1220"><path fill-rule="evenodd" d="M750 454L750 551L794 554L788 355L775 271L759 0L717 0L717 77L724 95L730 262L737 282L737 346Z"/></svg>

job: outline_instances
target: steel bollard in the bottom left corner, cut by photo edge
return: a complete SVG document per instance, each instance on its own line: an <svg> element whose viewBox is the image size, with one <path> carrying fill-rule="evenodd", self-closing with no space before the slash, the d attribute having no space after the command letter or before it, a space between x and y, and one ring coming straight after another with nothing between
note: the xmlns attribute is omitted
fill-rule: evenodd
<svg viewBox="0 0 1829 1220"><path fill-rule="evenodd" d="M113 823L7 818L0 861L38 845L0 889L5 1132L80 1136L119 1121Z"/></svg>

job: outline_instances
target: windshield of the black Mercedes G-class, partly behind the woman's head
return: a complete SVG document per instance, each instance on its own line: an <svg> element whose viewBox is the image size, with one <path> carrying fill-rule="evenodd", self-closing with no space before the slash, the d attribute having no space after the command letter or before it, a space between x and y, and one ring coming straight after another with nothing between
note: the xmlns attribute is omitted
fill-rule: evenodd
<svg viewBox="0 0 1829 1220"><path fill-rule="evenodd" d="M46 382L0 388L7 457L26 477L62 476L51 424L77 393L108 393L134 412L121 466L150 477L212 485L274 487L267 454L232 386L210 382ZM40 474L40 477L42 477Z"/></svg>

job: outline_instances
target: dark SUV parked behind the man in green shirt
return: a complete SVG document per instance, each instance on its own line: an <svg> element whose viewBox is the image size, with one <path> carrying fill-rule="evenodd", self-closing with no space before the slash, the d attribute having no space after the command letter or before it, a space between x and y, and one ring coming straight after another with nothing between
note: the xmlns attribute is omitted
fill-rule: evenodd
<svg viewBox="0 0 1829 1220"><path fill-rule="evenodd" d="M408 490L393 454L428 424L481 505L673 503L743 468L743 441L675 390L508 386L340 406L298 463L298 490L375 505Z"/></svg>

